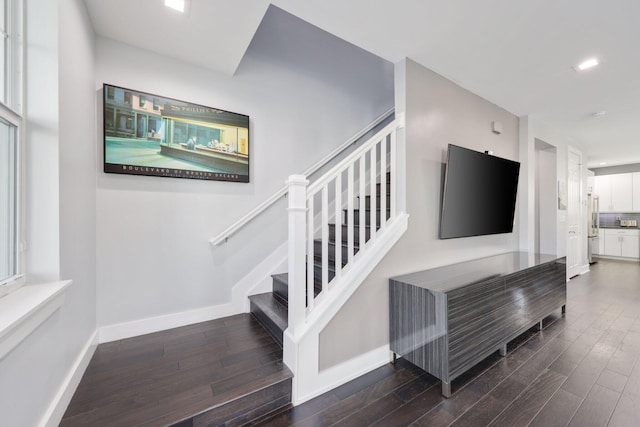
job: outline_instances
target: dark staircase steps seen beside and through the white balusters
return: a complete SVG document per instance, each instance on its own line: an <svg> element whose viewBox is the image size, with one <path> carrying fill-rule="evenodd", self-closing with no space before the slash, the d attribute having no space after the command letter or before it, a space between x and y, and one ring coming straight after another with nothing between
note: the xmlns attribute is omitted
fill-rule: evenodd
<svg viewBox="0 0 640 427"><path fill-rule="evenodd" d="M386 203L385 206L391 206L391 175L387 172L386 181ZM375 221L376 231L380 229L381 218L381 203L380 203L380 183L376 184L376 203L375 205ZM354 227L351 228L351 235L353 237L353 255L357 254L360 250L360 234L361 230L364 230L364 242L368 242L371 238L371 195L366 195L364 200L364 226L360 227L360 209L352 209ZM391 214L391 209L385 209L385 219L388 220ZM348 210L343 209L342 224L347 223ZM336 224L329 223L329 239L328 239L328 281L331 282L336 276L335 266L336 264ZM349 261L349 227L347 225L340 225L340 243L341 247L339 251L342 255L342 267L345 267ZM314 268L314 297L317 297L322 291L321 271L323 265L322 257L322 240L313 240L313 268ZM251 305L251 313L260 322L264 328L273 336L273 338L282 346L284 331L288 326L288 305L289 305L289 275L288 273L274 274L273 278L273 290L263 294L252 295L249 297Z"/></svg>

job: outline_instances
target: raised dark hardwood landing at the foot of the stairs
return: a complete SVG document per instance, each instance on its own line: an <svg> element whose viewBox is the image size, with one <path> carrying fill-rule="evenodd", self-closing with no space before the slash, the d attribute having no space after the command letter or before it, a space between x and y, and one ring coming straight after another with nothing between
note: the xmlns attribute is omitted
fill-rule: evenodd
<svg viewBox="0 0 640 427"><path fill-rule="evenodd" d="M250 314L198 323L99 345L60 425L243 425L290 406L291 377Z"/></svg>

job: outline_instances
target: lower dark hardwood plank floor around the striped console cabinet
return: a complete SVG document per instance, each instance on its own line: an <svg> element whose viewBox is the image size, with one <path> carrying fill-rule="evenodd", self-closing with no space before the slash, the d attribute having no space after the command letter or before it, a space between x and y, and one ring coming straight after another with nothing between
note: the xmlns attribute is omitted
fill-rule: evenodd
<svg viewBox="0 0 640 427"><path fill-rule="evenodd" d="M544 321L440 395L398 360L263 426L639 426L640 264L600 260L568 283L567 313Z"/></svg>

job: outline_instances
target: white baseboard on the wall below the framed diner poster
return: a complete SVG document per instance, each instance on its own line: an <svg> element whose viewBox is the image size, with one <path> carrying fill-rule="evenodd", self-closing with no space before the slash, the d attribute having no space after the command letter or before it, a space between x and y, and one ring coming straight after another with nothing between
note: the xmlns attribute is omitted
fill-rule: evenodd
<svg viewBox="0 0 640 427"><path fill-rule="evenodd" d="M179 328L180 326L191 325L193 323L206 322L219 319L221 317L240 314L231 303L213 305L210 307L198 308L195 310L182 311L179 313L165 314L162 316L148 317L146 319L133 320L131 322L117 323L115 325L102 326L98 328L99 342L111 342L125 338L136 337L138 335L150 334L164 331L165 329Z"/></svg>

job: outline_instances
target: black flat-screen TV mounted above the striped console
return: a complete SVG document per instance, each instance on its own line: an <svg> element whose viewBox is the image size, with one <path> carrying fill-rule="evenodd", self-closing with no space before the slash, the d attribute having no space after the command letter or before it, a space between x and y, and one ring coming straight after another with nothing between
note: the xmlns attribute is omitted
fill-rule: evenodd
<svg viewBox="0 0 640 427"><path fill-rule="evenodd" d="M440 238L511 233L520 163L449 144Z"/></svg>

